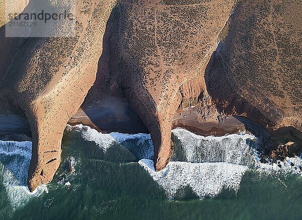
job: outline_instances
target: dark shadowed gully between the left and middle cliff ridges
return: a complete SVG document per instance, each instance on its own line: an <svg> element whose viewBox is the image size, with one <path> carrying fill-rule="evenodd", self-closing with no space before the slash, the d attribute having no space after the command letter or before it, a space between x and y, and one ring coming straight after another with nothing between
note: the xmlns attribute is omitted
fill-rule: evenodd
<svg viewBox="0 0 302 220"><path fill-rule="evenodd" d="M143 53L149 45L138 44L141 51L133 45L131 47L131 43L139 40L136 32L131 32L133 23L129 11L133 10L133 4L118 1L112 10L103 38L96 81L82 108L100 130L105 130L103 127L107 131L150 133L157 161L163 144L163 122L160 122L156 103L144 85L148 76L142 61L135 56L137 52ZM99 112L98 117L95 117L96 112Z"/></svg>

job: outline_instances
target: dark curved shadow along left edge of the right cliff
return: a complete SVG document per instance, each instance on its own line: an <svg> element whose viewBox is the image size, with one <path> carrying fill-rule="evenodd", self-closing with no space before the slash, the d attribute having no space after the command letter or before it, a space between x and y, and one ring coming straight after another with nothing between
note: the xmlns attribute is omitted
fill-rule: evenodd
<svg viewBox="0 0 302 220"><path fill-rule="evenodd" d="M257 108L248 103L248 101L241 97L234 89L236 82L229 69L230 66L223 61L223 57L220 54L222 47L223 42L220 42L206 67L204 77L207 92L215 103L219 114L233 115L234 118L242 122L253 135L267 142L270 139L270 134L262 125L255 121L262 121L263 124L270 122Z"/></svg>

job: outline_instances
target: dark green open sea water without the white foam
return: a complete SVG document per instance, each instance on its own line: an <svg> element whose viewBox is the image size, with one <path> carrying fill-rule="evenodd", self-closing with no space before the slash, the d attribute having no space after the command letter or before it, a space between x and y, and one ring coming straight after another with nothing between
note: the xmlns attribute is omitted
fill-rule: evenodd
<svg viewBox="0 0 302 220"><path fill-rule="evenodd" d="M68 173L71 156L73 174ZM0 219L302 219L302 179L296 175L249 171L237 193L225 189L215 198L199 199L186 187L169 200L129 152L116 146L105 157L94 142L68 134L48 193L12 207L3 173L14 159L0 154ZM70 186L57 183L62 178Z"/></svg>

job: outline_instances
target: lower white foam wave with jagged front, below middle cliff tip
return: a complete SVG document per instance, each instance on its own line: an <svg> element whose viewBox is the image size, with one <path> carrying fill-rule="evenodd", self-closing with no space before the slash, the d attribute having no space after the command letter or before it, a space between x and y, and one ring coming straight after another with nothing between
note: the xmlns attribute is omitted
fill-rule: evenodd
<svg viewBox="0 0 302 220"><path fill-rule="evenodd" d="M155 172L153 160L138 162L166 192L168 199L189 186L199 198L215 197L223 189L240 188L242 176L248 167L228 162L169 162L167 167Z"/></svg>

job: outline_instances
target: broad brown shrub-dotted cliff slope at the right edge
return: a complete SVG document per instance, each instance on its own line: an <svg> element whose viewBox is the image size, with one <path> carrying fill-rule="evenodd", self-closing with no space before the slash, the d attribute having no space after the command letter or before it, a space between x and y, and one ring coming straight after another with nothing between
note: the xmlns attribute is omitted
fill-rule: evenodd
<svg viewBox="0 0 302 220"><path fill-rule="evenodd" d="M239 1L205 78L215 104L276 130L302 130L300 1Z"/></svg>

